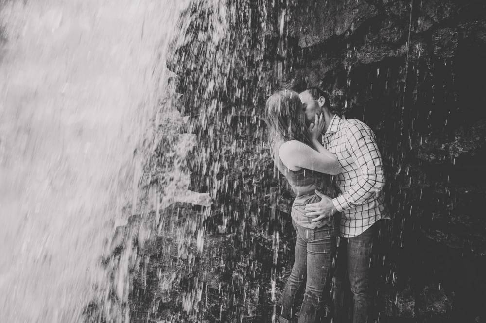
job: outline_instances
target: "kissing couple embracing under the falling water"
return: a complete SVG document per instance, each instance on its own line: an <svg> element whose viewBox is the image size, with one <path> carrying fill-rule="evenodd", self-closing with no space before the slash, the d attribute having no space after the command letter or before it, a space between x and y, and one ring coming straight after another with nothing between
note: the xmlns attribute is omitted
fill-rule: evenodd
<svg viewBox="0 0 486 323"><path fill-rule="evenodd" d="M333 113L329 94L317 87L300 94L280 90L265 110L275 166L296 196L295 261L278 322L294 322L295 295L303 284L298 323L344 323L350 316L353 323L372 322L371 250L377 221L387 218L375 135L363 122ZM330 185L329 175L335 176L331 191L337 196L322 193L330 191L323 187ZM346 310L349 289L352 305Z"/></svg>

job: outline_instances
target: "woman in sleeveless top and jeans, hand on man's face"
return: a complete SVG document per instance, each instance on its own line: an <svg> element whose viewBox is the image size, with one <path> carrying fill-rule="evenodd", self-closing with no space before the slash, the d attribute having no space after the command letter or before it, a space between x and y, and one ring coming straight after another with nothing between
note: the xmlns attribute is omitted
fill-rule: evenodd
<svg viewBox="0 0 486 323"><path fill-rule="evenodd" d="M295 261L282 295L280 323L292 320L297 289L307 276L299 323L314 323L329 313L329 295L323 293L329 282L332 255L339 235L338 221L311 222L305 204L319 201L315 190L321 190L323 174L341 171L337 158L327 151L319 138L324 129L323 116L315 117L309 126L301 109L298 93L281 90L266 102L266 123L275 165L286 177L296 198L292 205L292 224L297 234ZM312 145L312 147L311 147Z"/></svg>

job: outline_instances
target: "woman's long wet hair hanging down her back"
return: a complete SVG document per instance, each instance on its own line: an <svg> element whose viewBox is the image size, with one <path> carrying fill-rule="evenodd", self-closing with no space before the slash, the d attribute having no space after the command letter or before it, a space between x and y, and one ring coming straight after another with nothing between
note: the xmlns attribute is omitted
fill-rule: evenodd
<svg viewBox="0 0 486 323"><path fill-rule="evenodd" d="M265 110L268 141L272 150L278 141L299 140L309 143L309 130L297 92L275 92L267 99Z"/></svg>

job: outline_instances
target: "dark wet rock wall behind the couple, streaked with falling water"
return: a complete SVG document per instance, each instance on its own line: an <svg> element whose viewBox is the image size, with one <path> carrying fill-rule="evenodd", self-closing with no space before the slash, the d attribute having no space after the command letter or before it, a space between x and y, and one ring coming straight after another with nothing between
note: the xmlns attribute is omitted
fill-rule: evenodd
<svg viewBox="0 0 486 323"><path fill-rule="evenodd" d="M377 310L410 322L486 319L484 1L200 2L185 36L169 68L185 131L197 136L190 189L213 204L209 215L188 205L164 213L192 225L192 251L157 252L169 233L142 248L135 318L272 319L292 264L292 197L275 176L261 116L274 90L320 86L337 113L373 129L385 162L393 220L376 248ZM191 242L199 229L203 252ZM171 272L165 296L162 274L143 282L147 268Z"/></svg>

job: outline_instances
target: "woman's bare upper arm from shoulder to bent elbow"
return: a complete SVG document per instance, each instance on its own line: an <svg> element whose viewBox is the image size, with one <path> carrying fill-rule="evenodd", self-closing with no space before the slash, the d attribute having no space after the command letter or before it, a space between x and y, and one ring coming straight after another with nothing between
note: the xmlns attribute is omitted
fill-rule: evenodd
<svg viewBox="0 0 486 323"><path fill-rule="evenodd" d="M342 170L337 158L320 146L318 152L303 142L290 140L280 146L278 154L283 164L293 171L306 168L330 175L339 174Z"/></svg>

